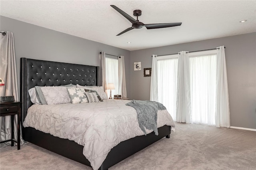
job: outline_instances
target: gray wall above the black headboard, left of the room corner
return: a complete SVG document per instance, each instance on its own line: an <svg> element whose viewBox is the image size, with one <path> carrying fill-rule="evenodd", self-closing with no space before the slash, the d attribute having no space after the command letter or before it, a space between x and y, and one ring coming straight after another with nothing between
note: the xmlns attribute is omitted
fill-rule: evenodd
<svg viewBox="0 0 256 170"><path fill-rule="evenodd" d="M105 51L112 55L124 55L126 82L130 82L130 51L128 50L78 38L4 16L0 16L0 29L14 34L18 76L20 76L21 57L96 66L100 65L99 52ZM20 81L20 78L18 80ZM127 83L127 95L130 97L129 83Z"/></svg>

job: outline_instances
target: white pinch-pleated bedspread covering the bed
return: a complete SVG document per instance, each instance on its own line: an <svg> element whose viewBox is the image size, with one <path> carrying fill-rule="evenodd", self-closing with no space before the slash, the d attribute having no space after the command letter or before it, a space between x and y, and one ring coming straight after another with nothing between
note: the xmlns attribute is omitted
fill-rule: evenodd
<svg viewBox="0 0 256 170"><path fill-rule="evenodd" d="M108 99L100 103L32 105L23 125L74 140L84 146L84 156L92 168L98 170L114 146L144 135L135 109L125 105L128 102ZM157 125L175 126L166 110L158 111ZM150 132L147 130L147 133Z"/></svg>

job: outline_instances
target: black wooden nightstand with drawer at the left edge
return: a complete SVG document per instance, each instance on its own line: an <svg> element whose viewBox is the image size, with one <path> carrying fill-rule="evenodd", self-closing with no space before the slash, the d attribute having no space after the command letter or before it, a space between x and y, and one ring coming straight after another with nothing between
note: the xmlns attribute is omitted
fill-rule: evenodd
<svg viewBox="0 0 256 170"><path fill-rule="evenodd" d="M0 143L11 141L11 146L14 146L14 142L17 143L18 150L20 150L20 102L1 102L0 103L0 116L11 116L12 121L12 138L9 140L1 141ZM18 115L17 122L17 141L14 140L14 115Z"/></svg>

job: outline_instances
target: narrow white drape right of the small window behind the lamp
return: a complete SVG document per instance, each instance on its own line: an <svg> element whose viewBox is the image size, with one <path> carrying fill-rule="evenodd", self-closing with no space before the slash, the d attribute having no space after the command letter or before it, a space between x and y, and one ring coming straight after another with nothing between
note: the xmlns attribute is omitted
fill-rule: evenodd
<svg viewBox="0 0 256 170"><path fill-rule="evenodd" d="M127 97L124 56L118 57L118 94Z"/></svg>

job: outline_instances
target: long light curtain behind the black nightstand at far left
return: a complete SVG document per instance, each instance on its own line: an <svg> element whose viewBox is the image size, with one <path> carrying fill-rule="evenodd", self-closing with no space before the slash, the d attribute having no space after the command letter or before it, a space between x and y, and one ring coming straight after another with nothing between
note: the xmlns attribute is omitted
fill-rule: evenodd
<svg viewBox="0 0 256 170"><path fill-rule="evenodd" d="M12 32L5 33L5 36L0 34L0 77L5 82L4 86L0 86L0 96L13 95L15 101L20 101L14 36ZM17 140L17 115L15 115L14 120L14 139ZM18 123L20 124L20 122ZM11 138L11 116L0 117L0 132L1 141ZM20 143L24 143L22 133L20 133ZM8 144L10 144L10 142L8 142ZM4 145L4 143L1 144L1 146Z"/></svg>

